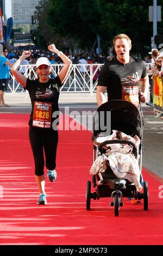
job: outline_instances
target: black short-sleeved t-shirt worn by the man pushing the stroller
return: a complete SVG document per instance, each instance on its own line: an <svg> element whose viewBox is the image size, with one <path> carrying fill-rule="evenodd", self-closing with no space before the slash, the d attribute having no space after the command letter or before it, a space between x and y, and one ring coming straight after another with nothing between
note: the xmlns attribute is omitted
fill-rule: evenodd
<svg viewBox="0 0 163 256"><path fill-rule="evenodd" d="M146 75L146 64L143 60L130 57L129 63L122 64L114 58L104 64L99 73L97 86L107 87L108 100L121 100L122 87L140 87L140 78Z"/></svg>

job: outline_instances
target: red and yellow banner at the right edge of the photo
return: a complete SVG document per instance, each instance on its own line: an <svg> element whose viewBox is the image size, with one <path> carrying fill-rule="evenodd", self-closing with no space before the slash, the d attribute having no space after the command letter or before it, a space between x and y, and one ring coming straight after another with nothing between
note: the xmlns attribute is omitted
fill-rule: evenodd
<svg viewBox="0 0 163 256"><path fill-rule="evenodd" d="M159 76L154 81L153 105L155 110L163 113L163 81Z"/></svg>

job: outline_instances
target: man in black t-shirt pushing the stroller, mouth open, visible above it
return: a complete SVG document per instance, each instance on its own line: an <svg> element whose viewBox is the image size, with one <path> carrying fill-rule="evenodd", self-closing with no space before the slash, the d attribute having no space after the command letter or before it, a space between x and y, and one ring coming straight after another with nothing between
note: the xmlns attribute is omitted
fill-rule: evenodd
<svg viewBox="0 0 163 256"><path fill-rule="evenodd" d="M106 102L105 92L110 100L126 100L140 111L140 102L146 102L149 78L142 59L130 57L131 40L126 34L118 34L113 40L116 57L106 62L98 76L97 104ZM142 115L143 116L143 115Z"/></svg>

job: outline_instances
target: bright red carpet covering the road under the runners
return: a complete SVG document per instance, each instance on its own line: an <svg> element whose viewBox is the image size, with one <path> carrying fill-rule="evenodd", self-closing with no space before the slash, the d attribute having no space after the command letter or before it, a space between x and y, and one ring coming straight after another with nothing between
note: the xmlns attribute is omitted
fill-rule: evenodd
<svg viewBox="0 0 163 256"><path fill-rule="evenodd" d="M54 184L46 180L48 204L36 205L28 119L29 114L0 114L0 245L162 245L163 182L145 168L148 211L143 200L133 205L125 199L115 217L110 198L91 200L86 211L86 184L92 180L89 131L59 131L58 178Z"/></svg>

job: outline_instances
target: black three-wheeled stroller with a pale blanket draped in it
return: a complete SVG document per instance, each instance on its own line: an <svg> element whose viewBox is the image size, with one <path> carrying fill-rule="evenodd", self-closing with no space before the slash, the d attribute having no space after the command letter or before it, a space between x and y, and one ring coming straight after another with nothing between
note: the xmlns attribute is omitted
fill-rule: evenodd
<svg viewBox="0 0 163 256"><path fill-rule="evenodd" d="M104 118L103 123L107 126L107 112L110 112L110 130L106 129L110 131L109 134L101 130L99 125ZM96 192L91 193L91 181L87 181L87 210L90 210L91 199L101 197L111 197L110 205L115 206L115 216L123 206L123 197L143 198L144 210L148 210L148 183L142 181L141 175L142 130L141 114L128 101L111 100L97 109L93 126L93 164L90 169ZM140 192L142 185L143 193Z"/></svg>

